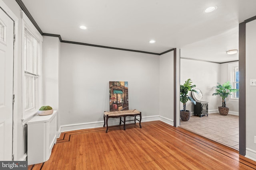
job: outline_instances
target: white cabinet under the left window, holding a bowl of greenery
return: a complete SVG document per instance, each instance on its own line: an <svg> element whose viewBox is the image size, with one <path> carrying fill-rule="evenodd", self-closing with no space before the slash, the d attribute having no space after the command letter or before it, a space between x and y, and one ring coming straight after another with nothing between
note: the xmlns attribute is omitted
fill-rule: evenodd
<svg viewBox="0 0 256 170"><path fill-rule="evenodd" d="M56 111L51 115L37 115L27 122L28 125L28 165L47 161L56 143Z"/></svg>

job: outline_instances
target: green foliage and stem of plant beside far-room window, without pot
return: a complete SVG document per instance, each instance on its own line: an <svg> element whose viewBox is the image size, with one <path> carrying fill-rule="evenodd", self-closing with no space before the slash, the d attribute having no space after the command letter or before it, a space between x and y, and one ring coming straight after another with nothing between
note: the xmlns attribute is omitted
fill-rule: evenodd
<svg viewBox="0 0 256 170"><path fill-rule="evenodd" d="M231 83L225 82L223 85L217 83L218 86L215 86L215 93L212 96L220 95L222 97L222 107L226 107L226 98L228 95L232 95L232 92L237 92L238 89L233 89Z"/></svg>

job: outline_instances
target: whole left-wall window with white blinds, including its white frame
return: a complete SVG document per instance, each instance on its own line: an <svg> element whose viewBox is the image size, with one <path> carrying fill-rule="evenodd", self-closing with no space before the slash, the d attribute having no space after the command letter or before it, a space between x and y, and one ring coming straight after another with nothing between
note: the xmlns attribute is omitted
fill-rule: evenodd
<svg viewBox="0 0 256 170"><path fill-rule="evenodd" d="M22 23L22 124L37 114L42 106L43 37L21 11Z"/></svg>

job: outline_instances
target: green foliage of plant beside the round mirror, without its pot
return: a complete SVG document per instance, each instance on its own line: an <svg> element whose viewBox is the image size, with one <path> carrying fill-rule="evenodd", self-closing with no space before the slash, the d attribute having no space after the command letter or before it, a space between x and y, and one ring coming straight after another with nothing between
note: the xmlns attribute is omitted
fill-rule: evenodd
<svg viewBox="0 0 256 170"><path fill-rule="evenodd" d="M194 105L196 104L194 99L188 96L189 91L198 93L196 90L192 89L194 87L196 87L196 85L192 85L190 78L186 80L183 85L180 85L180 102L183 103L183 111L186 111L186 102L188 102L188 100L190 100Z"/></svg>

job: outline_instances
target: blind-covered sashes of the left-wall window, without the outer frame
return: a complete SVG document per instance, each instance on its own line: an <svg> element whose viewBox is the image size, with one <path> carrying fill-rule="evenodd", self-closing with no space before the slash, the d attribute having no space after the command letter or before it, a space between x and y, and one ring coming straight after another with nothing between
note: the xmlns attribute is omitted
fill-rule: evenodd
<svg viewBox="0 0 256 170"><path fill-rule="evenodd" d="M35 109L36 80L40 75L40 42L24 28L24 104L25 112Z"/></svg>

